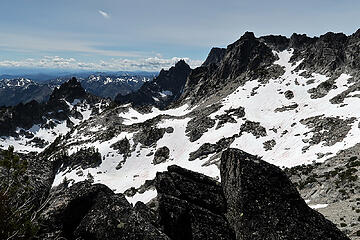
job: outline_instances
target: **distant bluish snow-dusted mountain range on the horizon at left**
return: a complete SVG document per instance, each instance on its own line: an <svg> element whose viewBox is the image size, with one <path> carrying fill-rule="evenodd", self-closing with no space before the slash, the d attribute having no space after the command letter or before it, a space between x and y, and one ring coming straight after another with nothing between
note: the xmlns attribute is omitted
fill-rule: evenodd
<svg viewBox="0 0 360 240"><path fill-rule="evenodd" d="M99 97L114 99L117 95L126 95L138 90L145 82L151 81L157 74L153 72L116 72L88 73L76 75L89 93ZM38 76L38 75L36 75ZM31 100L44 102L48 100L52 90L69 79L69 76L54 77L50 80L40 80L35 75L17 77L13 75L0 76L0 106L14 106Z"/></svg>

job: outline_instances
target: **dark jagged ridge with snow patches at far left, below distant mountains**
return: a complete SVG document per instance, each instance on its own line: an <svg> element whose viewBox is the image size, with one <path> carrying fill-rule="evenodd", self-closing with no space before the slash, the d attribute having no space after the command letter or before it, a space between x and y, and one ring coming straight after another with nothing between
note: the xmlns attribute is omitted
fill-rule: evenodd
<svg viewBox="0 0 360 240"><path fill-rule="evenodd" d="M0 108L0 135L9 141L9 145L15 143L44 149L59 134L67 133L109 104L107 100L86 93L76 78L72 78L55 88L45 103L32 100ZM47 134L41 134L41 129L46 129Z"/></svg>

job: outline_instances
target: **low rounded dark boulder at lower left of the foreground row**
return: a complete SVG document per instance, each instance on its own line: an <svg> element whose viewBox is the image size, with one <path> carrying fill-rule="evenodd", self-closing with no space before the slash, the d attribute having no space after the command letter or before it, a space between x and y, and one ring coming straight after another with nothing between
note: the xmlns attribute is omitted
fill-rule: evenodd
<svg viewBox="0 0 360 240"><path fill-rule="evenodd" d="M89 182L53 190L39 225L40 239L169 239L135 211L122 194Z"/></svg>

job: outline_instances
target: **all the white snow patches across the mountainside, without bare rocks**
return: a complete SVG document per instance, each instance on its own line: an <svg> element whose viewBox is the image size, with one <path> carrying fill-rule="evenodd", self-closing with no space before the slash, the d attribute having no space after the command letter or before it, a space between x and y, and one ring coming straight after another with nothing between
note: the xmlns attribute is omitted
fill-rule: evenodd
<svg viewBox="0 0 360 240"><path fill-rule="evenodd" d="M239 133L241 125L246 120L259 122L260 126L266 129L266 136L256 137L251 133L243 133L235 138L231 147L261 156L263 160L279 167L293 167L309 164L313 161L323 162L327 158L334 156L339 150L359 143L360 98L356 97L357 92L345 98L343 104L332 104L329 101L348 89L350 85L348 81L351 79L351 76L342 74L335 80L336 89L331 89L324 97L311 98L311 94L308 91L328 80L328 77L312 74L311 78L306 78L302 74L304 71L296 72L295 69L300 62L296 64L289 62L292 50L274 52L274 54L279 57L275 64L282 66L285 73L280 78L270 79L267 83L260 83L256 80L248 81L245 85L238 87L232 94L222 99L222 107L210 115L212 119L216 120L215 126L208 129L200 139L194 142L190 142L189 137L185 134L185 130L188 122L194 117L192 112L197 106L190 108L188 105L183 105L165 111L153 108L150 113L140 113L129 107L127 111L117 115L123 119L122 124L131 126L143 123L159 115L169 115L176 118L163 119L157 124L157 127L172 127L174 131L172 133L165 133L156 145L152 147L144 147L141 144L137 144L136 149L131 152L131 156L126 159L122 167L116 169L119 162L123 161L123 156L110 146L125 137L129 139L131 146L134 146L134 133L124 131L110 140L92 142L90 141L92 133L101 129L101 126L89 126L87 134L84 134L75 127L75 131L72 132L72 139L76 141L89 141L78 145L72 142L73 145L68 149L68 153L72 154L82 147L94 146L101 153L103 161L97 168L85 170L77 168L59 172L56 175L53 186L60 184L65 177L73 179L73 182L77 182L85 180L91 174L95 183L103 183L115 192L122 193L131 187L139 188L146 180L153 179L156 172L165 171L169 165L174 164L220 180L220 172L215 164L204 165L214 154L194 161L189 161L189 155L199 149L204 143L214 144L221 138L229 138ZM308 82L309 79L312 81ZM287 99L284 96L284 92L288 90L293 92L294 97L292 99ZM162 94L170 95L168 92L163 92ZM294 109L275 111L277 108L294 104L297 104L297 107ZM245 108L244 118L236 118L236 123L228 122L216 129L219 120L215 116L226 113L226 110L238 107ZM81 112L84 116L84 120L81 121L82 123L90 118L89 111L89 108L84 107L84 110ZM310 131L311 129L307 125L302 124L301 120L320 115L322 117L339 117L342 120L354 117L356 120L351 123L351 129L342 141L330 146L324 145L325 142L309 145L309 139L314 133ZM76 125L80 124L80 121L72 120ZM31 131L33 131L35 136L44 138L51 143L57 135L65 134L69 129L65 123L59 123L51 132L47 132L47 130L41 129L39 126L34 126ZM267 141L275 141L272 149L266 150L264 148L264 143ZM42 150L27 146L25 139L7 138L1 140L0 144L3 147L14 145L17 151L23 152ZM151 153L154 153L163 146L169 148L170 157L166 162L154 165L154 156ZM319 158L319 156L323 155L326 157ZM81 176L77 174L79 171L83 172ZM128 197L128 200L132 203L138 200L147 202L155 196L156 191L151 189L143 194L137 193L133 197ZM312 207L321 208L324 206L320 204Z"/></svg>

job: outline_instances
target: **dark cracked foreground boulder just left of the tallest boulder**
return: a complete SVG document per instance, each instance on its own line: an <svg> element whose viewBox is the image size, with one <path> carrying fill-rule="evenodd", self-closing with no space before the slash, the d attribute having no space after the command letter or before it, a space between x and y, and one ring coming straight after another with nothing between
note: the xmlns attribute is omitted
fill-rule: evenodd
<svg viewBox="0 0 360 240"><path fill-rule="evenodd" d="M160 226L173 240L234 239L224 217L225 199L218 182L177 166L158 173Z"/></svg>

